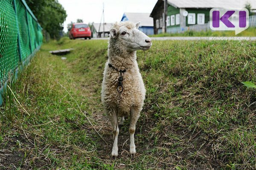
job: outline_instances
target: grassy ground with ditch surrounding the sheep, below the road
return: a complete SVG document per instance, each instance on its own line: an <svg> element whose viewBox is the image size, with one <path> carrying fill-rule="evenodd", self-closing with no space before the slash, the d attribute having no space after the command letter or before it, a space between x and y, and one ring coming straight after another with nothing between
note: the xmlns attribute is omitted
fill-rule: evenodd
<svg viewBox="0 0 256 170"><path fill-rule="evenodd" d="M61 48L75 50L66 60L48 52ZM256 91L241 83L256 82L255 42L154 41L145 54L138 51L147 94L136 159L128 156L128 121L119 133L120 158L106 155L112 143L100 102L106 59L107 40L63 38L42 46L12 85L22 107L9 93L11 104L0 110L0 167L256 168L256 106L250 105Z"/></svg>

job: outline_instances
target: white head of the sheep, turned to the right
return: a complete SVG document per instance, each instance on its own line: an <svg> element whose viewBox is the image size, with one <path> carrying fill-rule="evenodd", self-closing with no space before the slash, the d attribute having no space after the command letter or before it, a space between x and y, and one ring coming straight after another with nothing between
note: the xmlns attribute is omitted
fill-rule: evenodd
<svg viewBox="0 0 256 170"><path fill-rule="evenodd" d="M110 29L111 39L126 51L148 50L151 39L138 30L140 22L134 24L130 21L114 23Z"/></svg>

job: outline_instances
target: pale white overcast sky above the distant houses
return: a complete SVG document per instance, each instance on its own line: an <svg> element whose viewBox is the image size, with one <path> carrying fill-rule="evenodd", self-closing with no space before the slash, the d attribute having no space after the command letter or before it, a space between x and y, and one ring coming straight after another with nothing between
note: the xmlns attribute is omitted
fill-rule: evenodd
<svg viewBox="0 0 256 170"><path fill-rule="evenodd" d="M67 24L76 19L84 23L100 23L104 3L105 23L114 23L122 19L124 12L151 13L157 0L58 0L67 11L64 31ZM103 22L103 19L102 19Z"/></svg>

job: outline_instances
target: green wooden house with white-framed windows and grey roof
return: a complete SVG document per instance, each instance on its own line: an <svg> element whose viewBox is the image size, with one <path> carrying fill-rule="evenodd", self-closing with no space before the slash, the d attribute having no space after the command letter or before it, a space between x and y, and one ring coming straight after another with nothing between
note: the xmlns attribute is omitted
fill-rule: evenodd
<svg viewBox="0 0 256 170"><path fill-rule="evenodd" d="M158 0L150 14L154 19L154 34L207 26L212 8L244 8L247 3L256 8L256 0Z"/></svg>

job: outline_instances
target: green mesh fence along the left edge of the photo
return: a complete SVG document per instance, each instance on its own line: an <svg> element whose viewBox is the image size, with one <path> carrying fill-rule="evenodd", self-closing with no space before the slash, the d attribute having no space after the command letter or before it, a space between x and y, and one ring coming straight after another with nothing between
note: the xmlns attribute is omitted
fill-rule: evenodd
<svg viewBox="0 0 256 170"><path fill-rule="evenodd" d="M0 92L42 42L42 28L25 0L0 0Z"/></svg>

